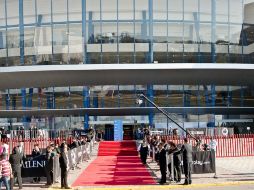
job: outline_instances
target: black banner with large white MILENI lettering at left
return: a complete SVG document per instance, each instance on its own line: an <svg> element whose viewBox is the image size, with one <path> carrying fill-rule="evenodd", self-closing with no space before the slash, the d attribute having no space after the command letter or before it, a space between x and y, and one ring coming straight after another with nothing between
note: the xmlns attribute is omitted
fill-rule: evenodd
<svg viewBox="0 0 254 190"><path fill-rule="evenodd" d="M28 158L21 167L21 176L23 177L45 177L44 167L46 164L45 155L35 158Z"/></svg>

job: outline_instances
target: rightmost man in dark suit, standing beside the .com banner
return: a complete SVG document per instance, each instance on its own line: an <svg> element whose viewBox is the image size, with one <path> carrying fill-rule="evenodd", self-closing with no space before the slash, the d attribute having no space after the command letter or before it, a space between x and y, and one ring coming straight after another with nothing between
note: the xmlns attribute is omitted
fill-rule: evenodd
<svg viewBox="0 0 254 190"><path fill-rule="evenodd" d="M192 146L188 143L188 139L184 139L181 152L183 154L183 170L185 175L184 185L191 184L191 168L192 168Z"/></svg>

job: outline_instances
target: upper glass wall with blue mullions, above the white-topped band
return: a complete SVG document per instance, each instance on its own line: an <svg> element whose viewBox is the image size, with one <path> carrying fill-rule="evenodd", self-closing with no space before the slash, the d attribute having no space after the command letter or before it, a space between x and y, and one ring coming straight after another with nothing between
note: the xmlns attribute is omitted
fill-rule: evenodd
<svg viewBox="0 0 254 190"><path fill-rule="evenodd" d="M24 48L25 65L80 64L85 43L91 64L146 63L149 51L159 63L253 63L253 3L23 0L22 7L19 1L1 0L0 62L19 65L19 48ZM20 47L20 17L24 47Z"/></svg>

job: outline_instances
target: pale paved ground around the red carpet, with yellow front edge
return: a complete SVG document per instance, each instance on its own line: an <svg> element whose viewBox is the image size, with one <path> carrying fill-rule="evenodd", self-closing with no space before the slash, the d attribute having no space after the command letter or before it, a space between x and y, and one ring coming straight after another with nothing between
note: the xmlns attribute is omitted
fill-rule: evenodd
<svg viewBox="0 0 254 190"><path fill-rule="evenodd" d="M71 170L68 176L69 184L78 178L82 171L97 157L98 144L95 145L91 160L80 164L80 168ZM151 175L159 181L160 172L158 165L148 159L148 169ZM73 189L85 190L159 190L159 189L199 189L199 190L242 190L254 189L254 157L236 157L236 158L217 158L216 159L217 177L214 174L193 174L193 184L183 186L181 184L171 183L168 185L145 185L145 186L104 186L104 187L78 187ZM182 179L184 176L182 175ZM182 180L183 182L183 180ZM32 184L25 181L25 190L42 189L43 183ZM60 183L56 183L51 190L60 189Z"/></svg>

